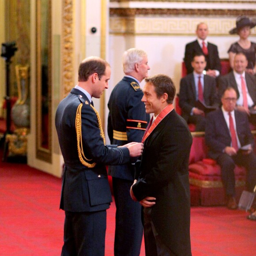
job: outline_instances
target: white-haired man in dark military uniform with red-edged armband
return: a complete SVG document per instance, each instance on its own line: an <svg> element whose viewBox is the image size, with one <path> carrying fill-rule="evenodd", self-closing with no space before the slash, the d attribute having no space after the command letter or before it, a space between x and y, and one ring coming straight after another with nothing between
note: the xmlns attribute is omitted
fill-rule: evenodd
<svg viewBox="0 0 256 256"><path fill-rule="evenodd" d="M123 55L124 78L117 83L109 98L108 134L111 144L141 142L149 122L139 83L148 77L147 53L128 49ZM109 166L117 207L115 256L139 256L143 236L141 205L130 196L134 181L134 166Z"/></svg>

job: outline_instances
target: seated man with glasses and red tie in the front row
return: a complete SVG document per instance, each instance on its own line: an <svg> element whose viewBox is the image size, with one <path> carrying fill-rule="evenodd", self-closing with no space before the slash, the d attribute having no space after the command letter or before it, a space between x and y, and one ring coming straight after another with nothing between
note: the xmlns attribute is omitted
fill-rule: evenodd
<svg viewBox="0 0 256 256"><path fill-rule="evenodd" d="M235 164L247 169L249 192L253 192L256 184L256 156L252 148L253 136L245 113L235 110L237 93L228 87L222 95L222 108L207 116L205 141L209 149L209 157L216 159L221 166L222 182L227 195L227 207L236 209L235 200Z"/></svg>

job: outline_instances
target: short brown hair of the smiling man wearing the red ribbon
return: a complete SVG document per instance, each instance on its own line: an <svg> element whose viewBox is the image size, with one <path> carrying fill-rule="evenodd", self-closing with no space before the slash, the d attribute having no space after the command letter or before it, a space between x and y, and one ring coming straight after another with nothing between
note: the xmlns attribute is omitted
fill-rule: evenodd
<svg viewBox="0 0 256 256"><path fill-rule="evenodd" d="M173 99L176 93L176 88L173 83L173 80L168 75L159 74L159 75L153 75L151 77L146 77L145 82L151 83L154 85L155 87L154 90L158 98L160 98L164 93L166 93L168 95L166 102L168 104L173 103Z"/></svg>

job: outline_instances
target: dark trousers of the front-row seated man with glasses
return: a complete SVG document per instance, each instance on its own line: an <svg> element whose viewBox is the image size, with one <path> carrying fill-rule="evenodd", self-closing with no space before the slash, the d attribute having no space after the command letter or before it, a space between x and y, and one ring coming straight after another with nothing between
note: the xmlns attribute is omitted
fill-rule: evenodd
<svg viewBox="0 0 256 256"><path fill-rule="evenodd" d="M255 154L243 154L241 150L234 156L223 153L217 158L217 163L221 166L222 182L227 196L235 196L234 169L236 164L246 168L246 188L249 192L253 192L253 188L256 185Z"/></svg>

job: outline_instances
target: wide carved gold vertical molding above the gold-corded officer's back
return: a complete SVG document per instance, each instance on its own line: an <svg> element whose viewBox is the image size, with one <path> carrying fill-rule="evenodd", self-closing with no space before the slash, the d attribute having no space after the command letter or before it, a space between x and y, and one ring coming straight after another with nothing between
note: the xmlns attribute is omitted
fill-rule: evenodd
<svg viewBox="0 0 256 256"><path fill-rule="evenodd" d="M74 65L73 65L73 1L65 0L63 3L62 16L62 74L64 85L64 96L67 96L74 86Z"/></svg>

